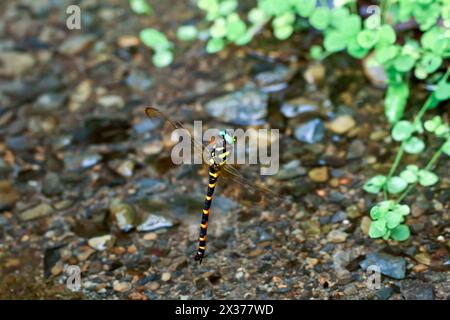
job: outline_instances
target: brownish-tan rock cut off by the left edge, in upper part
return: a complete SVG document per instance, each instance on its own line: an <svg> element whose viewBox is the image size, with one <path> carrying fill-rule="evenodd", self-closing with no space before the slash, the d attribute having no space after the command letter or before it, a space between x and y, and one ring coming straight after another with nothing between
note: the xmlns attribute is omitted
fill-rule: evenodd
<svg viewBox="0 0 450 320"><path fill-rule="evenodd" d="M0 76L20 77L33 68L34 57L29 53L0 51Z"/></svg>

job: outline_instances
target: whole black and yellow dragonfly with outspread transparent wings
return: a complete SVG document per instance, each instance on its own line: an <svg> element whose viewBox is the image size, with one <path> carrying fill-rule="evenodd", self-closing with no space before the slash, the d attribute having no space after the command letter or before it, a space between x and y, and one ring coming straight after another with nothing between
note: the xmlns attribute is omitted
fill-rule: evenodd
<svg viewBox="0 0 450 320"><path fill-rule="evenodd" d="M189 132L180 121L172 120L169 116L167 116L157 108L146 107L145 114L150 119L160 119L165 121L166 123L170 124L173 129L183 129L186 130L186 132ZM246 190L251 190L255 193L268 196L277 204L287 204L287 202L286 199L281 198L272 190L266 187L258 186L255 183L244 178L235 167L227 163L227 157L229 157L231 149L235 145L235 142L237 140L237 137L230 135L227 130L220 130L218 139L213 139L209 143L199 141L192 135L189 135L189 138L194 148L200 151L202 155L205 151L206 154L209 154L209 157L207 159L209 176L208 187L206 190L205 202L202 209L198 247L194 257L194 260L198 261L201 264L203 258L205 257L209 215L211 211L214 190L216 188L219 176L224 176L226 179L231 180L231 182L237 183Z"/></svg>

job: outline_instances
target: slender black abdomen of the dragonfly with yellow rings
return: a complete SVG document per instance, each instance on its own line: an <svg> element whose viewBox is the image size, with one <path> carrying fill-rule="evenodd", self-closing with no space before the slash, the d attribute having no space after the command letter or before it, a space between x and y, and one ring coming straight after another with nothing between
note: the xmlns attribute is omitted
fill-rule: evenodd
<svg viewBox="0 0 450 320"><path fill-rule="evenodd" d="M203 205L202 222L200 223L200 236L197 254L195 260L202 263L202 259L206 250L206 232L208 230L209 209L211 208L214 189L216 188L217 179L219 178L219 169L216 166L209 166L209 182L206 192L205 204Z"/></svg>

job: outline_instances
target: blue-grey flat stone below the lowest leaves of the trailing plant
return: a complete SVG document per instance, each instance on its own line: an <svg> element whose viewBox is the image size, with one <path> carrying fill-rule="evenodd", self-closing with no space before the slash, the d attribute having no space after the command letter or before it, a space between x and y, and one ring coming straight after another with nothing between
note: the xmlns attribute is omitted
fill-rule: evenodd
<svg viewBox="0 0 450 320"><path fill-rule="evenodd" d="M394 279L405 277L406 262L402 257L395 257L384 252L369 253L366 259L360 263L360 266L366 270L370 265L378 266L381 273L388 277Z"/></svg>

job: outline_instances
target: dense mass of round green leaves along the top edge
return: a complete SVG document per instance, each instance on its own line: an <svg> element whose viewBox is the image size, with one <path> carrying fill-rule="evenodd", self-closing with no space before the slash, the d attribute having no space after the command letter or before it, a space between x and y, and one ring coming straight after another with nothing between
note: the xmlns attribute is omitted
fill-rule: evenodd
<svg viewBox="0 0 450 320"><path fill-rule="evenodd" d="M145 0L130 3L137 12L147 11L139 9L147 8ZM369 7L372 14L363 20L356 0L334 0L332 8L324 0L257 0L248 12L238 12L237 0L197 0L209 23L207 30L198 32L195 26L182 26L177 36L191 41L206 34L206 51L216 53L229 44L248 44L269 22L279 40L289 38L299 26L308 23L323 34L323 44L311 47L313 59L346 51L356 59L367 57L369 63L383 66L388 78L385 114L395 124L403 116L410 79L414 76L430 82L450 56L450 31L446 29L450 27L450 1L381 0L378 4ZM443 26L438 24L439 19ZM408 21L415 21L418 29L395 30L396 25ZM149 45L148 41L143 43ZM155 55L153 61L158 67L173 60L168 49L156 51Z"/></svg>

